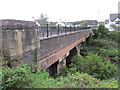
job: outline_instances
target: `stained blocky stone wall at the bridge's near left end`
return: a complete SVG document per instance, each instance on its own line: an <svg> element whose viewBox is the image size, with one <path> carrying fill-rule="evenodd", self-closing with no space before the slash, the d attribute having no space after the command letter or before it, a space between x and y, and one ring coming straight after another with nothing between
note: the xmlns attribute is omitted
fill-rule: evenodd
<svg viewBox="0 0 120 90"><path fill-rule="evenodd" d="M14 26L14 22L17 21L9 21L12 26ZM12 23L11 23L12 22ZM19 21L20 22L20 21ZM22 22L22 21L21 21ZM33 25L34 22L25 22L27 27ZM4 24L4 29L0 30L1 34L1 42L0 46L2 47L0 51L3 52L4 56L8 56L11 60L23 60L23 62L27 64L32 64L34 57L34 49L35 40L38 33L38 47L40 47L40 32L37 28L6 28L5 21L2 22ZM14 26L15 27L15 26ZM2 26L3 28L3 26ZM6 29L5 29L6 28ZM39 54L40 55L40 54Z"/></svg>

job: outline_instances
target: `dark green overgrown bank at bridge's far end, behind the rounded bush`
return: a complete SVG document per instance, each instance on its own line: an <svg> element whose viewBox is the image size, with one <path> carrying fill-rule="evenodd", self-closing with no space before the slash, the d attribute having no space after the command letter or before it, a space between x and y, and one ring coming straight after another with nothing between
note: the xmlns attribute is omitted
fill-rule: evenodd
<svg viewBox="0 0 120 90"><path fill-rule="evenodd" d="M98 29L93 29L93 33L94 36L88 38L86 48L81 50L81 54L83 56L88 55L89 51L112 61L120 61L118 53L120 49L118 47L120 32L110 32L103 25L100 25Z"/></svg>

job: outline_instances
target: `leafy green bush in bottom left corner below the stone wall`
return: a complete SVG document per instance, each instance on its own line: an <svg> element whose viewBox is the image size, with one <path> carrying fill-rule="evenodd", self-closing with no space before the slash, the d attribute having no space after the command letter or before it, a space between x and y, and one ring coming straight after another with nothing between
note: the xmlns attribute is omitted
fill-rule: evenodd
<svg viewBox="0 0 120 90"><path fill-rule="evenodd" d="M48 88L53 84L46 71L31 72L31 67L22 65L16 68L2 67L2 89L10 88Z"/></svg>

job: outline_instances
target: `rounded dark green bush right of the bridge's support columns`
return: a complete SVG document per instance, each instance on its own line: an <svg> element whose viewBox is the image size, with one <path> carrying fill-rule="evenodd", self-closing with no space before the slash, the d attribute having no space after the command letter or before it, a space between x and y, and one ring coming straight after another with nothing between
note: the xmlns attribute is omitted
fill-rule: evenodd
<svg viewBox="0 0 120 90"><path fill-rule="evenodd" d="M76 68L76 71L88 73L101 80L112 78L117 73L117 66L95 54L89 54L84 58L75 56L71 68Z"/></svg>

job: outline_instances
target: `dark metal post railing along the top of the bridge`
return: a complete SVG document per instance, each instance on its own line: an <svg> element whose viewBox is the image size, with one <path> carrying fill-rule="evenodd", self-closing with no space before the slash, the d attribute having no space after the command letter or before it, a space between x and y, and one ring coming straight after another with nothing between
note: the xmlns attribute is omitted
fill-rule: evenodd
<svg viewBox="0 0 120 90"><path fill-rule="evenodd" d="M50 26L46 24L46 26L40 26L39 30L41 33L41 38L47 38L47 37L53 37L63 34L70 34L73 32L78 32L80 30L87 30L91 27L76 27L76 26L70 26L70 27L60 27L58 26Z"/></svg>

